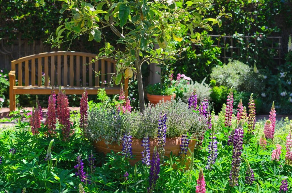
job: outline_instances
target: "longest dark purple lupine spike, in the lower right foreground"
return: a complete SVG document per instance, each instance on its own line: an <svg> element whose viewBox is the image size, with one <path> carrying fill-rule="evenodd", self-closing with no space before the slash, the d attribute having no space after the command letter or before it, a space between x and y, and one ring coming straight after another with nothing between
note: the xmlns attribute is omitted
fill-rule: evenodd
<svg viewBox="0 0 292 193"><path fill-rule="evenodd" d="M229 141L229 140L228 140ZM237 129L234 129L233 135L230 138L230 141L233 144L232 150L232 164L231 170L229 173L229 185L231 187L238 186L238 176L240 171L241 164L241 150L243 144L243 129L241 122L239 122Z"/></svg>

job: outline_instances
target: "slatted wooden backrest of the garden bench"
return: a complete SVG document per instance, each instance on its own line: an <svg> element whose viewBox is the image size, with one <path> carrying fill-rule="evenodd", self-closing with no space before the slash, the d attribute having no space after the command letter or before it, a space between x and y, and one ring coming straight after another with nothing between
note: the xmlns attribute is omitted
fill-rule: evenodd
<svg viewBox="0 0 292 193"><path fill-rule="evenodd" d="M83 65L90 63L95 56L72 51L46 52L11 61L11 70L16 73L18 86L107 86L104 83L108 83L112 74L117 72L116 61L102 59ZM101 75L95 77L93 70L101 71Z"/></svg>

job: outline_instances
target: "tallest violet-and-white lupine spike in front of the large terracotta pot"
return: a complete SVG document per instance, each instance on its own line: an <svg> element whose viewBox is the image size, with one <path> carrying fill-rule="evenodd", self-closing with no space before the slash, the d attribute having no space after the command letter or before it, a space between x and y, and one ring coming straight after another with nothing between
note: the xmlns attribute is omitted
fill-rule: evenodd
<svg viewBox="0 0 292 193"><path fill-rule="evenodd" d="M164 162L164 146L166 143L166 114L160 113L159 115L159 120L158 120L158 131L157 131L157 145L158 145L158 152L159 152L159 157L161 158L160 161L161 163Z"/></svg>

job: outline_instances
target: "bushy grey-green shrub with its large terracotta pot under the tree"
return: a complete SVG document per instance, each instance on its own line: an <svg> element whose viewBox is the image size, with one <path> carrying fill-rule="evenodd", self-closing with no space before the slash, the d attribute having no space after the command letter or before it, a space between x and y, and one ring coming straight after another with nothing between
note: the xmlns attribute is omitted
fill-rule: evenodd
<svg viewBox="0 0 292 193"><path fill-rule="evenodd" d="M162 123L165 120L165 123ZM160 126L159 126L159 123ZM88 114L86 135L94 141L98 152L122 152L123 138L131 136L132 153L135 159L131 164L142 159L142 140L149 137L150 154L155 146L159 146L159 127L166 127L164 156L171 152L178 154L181 150L182 137L189 140L188 148L193 150L196 138L200 138L206 129L206 119L194 113L181 100L166 101L156 106L148 105L143 113L137 110L117 114L115 110L91 109ZM160 128L161 129L161 128ZM162 134L163 135L163 134Z"/></svg>

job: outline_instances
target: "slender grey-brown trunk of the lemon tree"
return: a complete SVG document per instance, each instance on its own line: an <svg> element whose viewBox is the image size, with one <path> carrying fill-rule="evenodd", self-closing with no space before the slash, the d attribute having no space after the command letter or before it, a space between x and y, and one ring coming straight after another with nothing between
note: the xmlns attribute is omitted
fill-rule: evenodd
<svg viewBox="0 0 292 193"><path fill-rule="evenodd" d="M143 80L142 80L142 72L141 72L141 64L139 58L139 50L136 50L136 61L135 67L137 71L137 80L138 80L138 92L139 92L139 105L140 105L140 113L145 110L145 101L144 101L144 89L143 89Z"/></svg>

